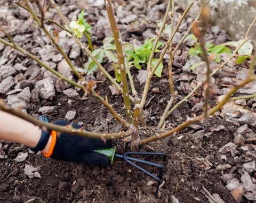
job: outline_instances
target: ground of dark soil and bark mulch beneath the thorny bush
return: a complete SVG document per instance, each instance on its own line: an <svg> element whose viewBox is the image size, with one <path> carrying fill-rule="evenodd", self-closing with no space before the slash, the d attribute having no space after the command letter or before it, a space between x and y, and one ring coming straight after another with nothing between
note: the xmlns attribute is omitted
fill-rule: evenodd
<svg viewBox="0 0 256 203"><path fill-rule="evenodd" d="M118 0L114 2L118 24L122 25L123 40L140 45L144 39L154 37L157 29L156 24L165 12L165 1ZM69 20L75 20L77 14L85 9L85 19L93 27L92 44L95 47L102 46L102 39L111 35L106 22L106 11L101 1L70 0L57 1L57 3L61 5L63 13L68 16ZM1 23L21 47L49 63L54 69L59 70L60 66L65 66L60 65L62 58L58 60L58 57L52 57L58 54L57 50L53 48L50 40L43 32L34 27L33 21L29 19L27 12L14 3L5 0L0 0L0 5ZM175 10L175 16L177 16L175 22L177 23L179 12L182 11L178 8L175 8ZM47 10L45 16L59 21L57 14L51 7ZM175 40L182 37L182 33L185 33L193 18L194 16L188 16L185 19L179 29L177 39L174 39L174 46L177 44ZM143 20L146 20L147 23L143 23ZM170 23L170 21L167 23ZM57 29L50 24L47 24L47 28ZM59 35L61 35L60 30ZM0 37L3 37L2 33L0 33ZM7 40L7 38L4 39ZM86 43L86 39L82 40ZM166 38L163 37L162 40L165 41ZM218 45L229 40L230 38L225 31L209 24L206 42ZM62 46L66 46L65 50L69 56L76 54L72 39L61 35L60 43ZM191 72L188 63L195 62L189 58L188 48L190 46L188 42L182 45L173 62L175 90L179 91L176 103L185 97L205 74L202 73L204 71L201 67ZM72 62L77 67L83 67L88 58L82 52L79 52L78 55L81 57L72 58ZM226 55L221 56L222 62L225 57L227 58ZM141 138L155 135L156 130L150 126L158 124L159 117L161 117L167 101L170 99L167 63L167 56L165 56L162 78L154 76L151 82L145 106L148 127L140 128ZM218 66L214 61L211 63L212 67ZM107 109L99 104L97 100L84 95L82 91L78 91L79 99L72 98L69 94L63 94L63 90L59 89L61 85L58 80L54 79L53 75L47 73L26 56L2 44L0 44L0 64L2 71L6 68L3 66L10 68L9 72L11 72L12 67L21 67L7 76L6 74L0 76L0 82L3 82L7 77L13 77L13 85L0 94L6 103L9 101L9 105L15 107L15 104L22 104L22 108L28 114L38 117L43 113L49 116L51 121L64 119L68 111L75 111L75 118L69 121L84 125L90 130L98 132L119 132L123 130L122 126L113 119ZM107 60L103 60L102 64L115 77L111 64ZM188 69L186 66L188 66ZM145 66L142 69L145 70ZM231 61L222 72L215 75L211 81L214 85L210 95L210 105L218 104L218 97L225 94L228 89L234 86L234 83L242 80L247 70L247 63L236 65L234 61ZM137 79L138 70L132 67L131 73L135 88L137 88L139 94L142 94L143 85ZM70 72L70 75L73 80L77 81L73 73ZM106 95L109 103L113 104L116 111L125 116L121 105L122 96L111 93L109 89L111 83L97 71L90 77L89 80L98 81L95 90L99 91L102 97ZM52 98L45 99L42 95L38 97L35 87L38 81L47 78L50 78L54 83L55 95ZM24 101L22 100L24 97L19 96L19 94L27 87L29 87L28 90L32 96ZM70 87L65 89L68 88ZM246 88L248 90L252 87L247 86ZM17 90L18 93L14 92L13 94L8 93L14 89L21 89L22 91ZM244 91L237 94L237 96L242 94L249 93ZM14 95L13 97L17 98L18 102L12 102L11 95ZM186 103L183 103L173 114L167 117L165 131L171 130L186 121L187 117L201 114L203 112L203 99L202 89L199 89L194 96L190 97ZM243 109L250 109L252 113L255 112L255 99L246 99L241 103L236 103L236 105ZM42 112L41 107L53 108L50 111ZM157 198L155 197L157 182L119 158L116 158L114 163L107 167L66 163L45 158L41 153L32 153L27 146L1 141L0 202L214 202L213 200L209 201L209 194L214 196L215 202L236 202L226 185L233 180L232 178L236 178L243 188L244 184L243 181L241 182L241 176L246 173L249 173L252 184L255 183L256 153L254 149L256 147L253 145L255 141L245 141L240 146L236 143L236 145L234 144L235 148L234 146L233 148L230 147L225 153L220 149L230 142L234 143L234 136L237 133L242 134L245 138L255 138L256 130L255 124L253 124L255 117L245 118L243 121L239 120L239 117L249 115L249 113L238 111L238 113L233 112L233 114L238 115L237 119L231 120L230 117L227 118L220 113L211 116L204 122L188 126L181 132L164 140L141 146L140 151L165 153L167 158L167 161L164 161L163 158L159 157L138 157L164 165L162 184ZM243 128L243 130L239 131L238 128ZM117 145L119 154L130 151L130 143L124 143L122 140L114 140L113 143ZM18 162L18 154L23 155L25 153L28 153L25 160ZM252 163L251 167L247 167L246 163ZM25 174L25 167L28 166L36 168L37 173L34 173L34 177ZM146 168L147 171L157 174L157 168L141 166ZM226 176L223 176L227 174L232 176L228 181L225 179ZM244 194L246 194L245 189ZM248 196L242 196L242 194L241 197L242 199L238 202L253 200L253 198L250 199Z"/></svg>

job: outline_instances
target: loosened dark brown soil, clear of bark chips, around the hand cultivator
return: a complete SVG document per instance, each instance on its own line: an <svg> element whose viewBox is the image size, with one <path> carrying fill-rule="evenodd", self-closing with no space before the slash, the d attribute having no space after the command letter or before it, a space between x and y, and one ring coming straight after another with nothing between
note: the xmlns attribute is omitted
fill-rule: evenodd
<svg viewBox="0 0 256 203"><path fill-rule="evenodd" d="M99 88L105 86L106 83L102 83ZM110 103L114 100L121 100L120 96L111 96L109 91L103 91L102 94L104 93L108 95ZM84 102L75 102L68 105L67 100L66 96L60 95L58 100L51 102L53 106L58 103L61 104L61 108L58 108L58 114L50 116L51 120L62 119L67 111L75 109L77 116L74 122L85 121L88 127L93 125L95 118L104 120L108 115L107 110L98 103L94 103L91 98L89 98L90 102L86 103L86 106ZM157 100L151 101L153 108L163 108L162 105L158 105ZM86 108L95 109L93 117ZM180 111L182 117L187 115L184 112L188 113L189 111L189 106L185 105L185 108L183 106L182 110L184 111ZM207 126L216 124L222 124L229 128L228 124L223 123L218 117L207 120L204 123L204 128L207 129ZM114 126L114 124L109 125L109 131L113 131L111 126ZM20 151L27 152L28 148L19 144L8 143L9 146L6 148L8 159L2 159L0 163L1 201L24 202L35 198L34 202L170 202L170 194L174 194L181 202L195 202L194 197L198 197L205 202L206 198L199 189L204 186L210 192L219 193L226 202L234 202L229 191L222 185L221 171L214 169L204 171L198 160L195 159L198 156L210 156L210 162L219 163L217 149L228 143L233 138L232 134L221 130L212 134L211 137L205 137L199 143L195 143L196 140L193 140L190 134L196 131L189 128L185 131L186 133L179 134L179 136L183 134L185 139L178 140L173 137L165 141L150 143L150 148L143 146L141 149L141 151L166 154L167 162L163 162L162 158L149 159L157 163L163 163L165 166L163 175L165 183L159 190L161 196L158 199L154 196L156 183L147 185L149 181L154 179L118 158L116 158L113 165L106 168L59 162L45 158L42 154L29 154L25 162L17 163L13 159ZM5 143L3 142L3 144ZM191 149L193 145L195 148ZM118 153L122 154L125 150L127 149L122 143L118 145ZM142 156L141 158L146 157ZM41 179L37 177L29 179L23 173L25 164L41 167L39 170ZM120 167L121 165L122 167ZM150 172L157 173L156 168L143 167Z"/></svg>

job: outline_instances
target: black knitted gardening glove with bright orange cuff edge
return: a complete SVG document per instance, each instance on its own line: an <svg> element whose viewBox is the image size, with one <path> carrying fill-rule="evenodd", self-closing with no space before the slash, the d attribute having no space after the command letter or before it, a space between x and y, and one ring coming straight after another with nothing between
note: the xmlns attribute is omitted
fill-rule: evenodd
<svg viewBox="0 0 256 203"><path fill-rule="evenodd" d="M54 124L68 125L70 123L65 120L59 120L54 122ZM79 129L82 128L82 126L73 124L73 128ZM52 154L51 148L48 154L44 153L46 157L88 165L106 166L108 164L108 158L105 155L96 153L92 150L112 147L111 140L107 140L105 143L99 139L74 136L71 134L61 134L58 138L53 132L55 131L52 131L51 148L54 148Z"/></svg>

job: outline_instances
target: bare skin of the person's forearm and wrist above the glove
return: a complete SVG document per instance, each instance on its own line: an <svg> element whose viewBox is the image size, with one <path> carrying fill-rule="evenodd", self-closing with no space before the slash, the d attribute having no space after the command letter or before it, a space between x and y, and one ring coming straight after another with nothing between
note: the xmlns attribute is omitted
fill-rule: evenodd
<svg viewBox="0 0 256 203"><path fill-rule="evenodd" d="M42 130L38 126L0 110L0 140L36 147L41 138L41 132ZM50 136L47 145L43 149L46 154L49 151L51 140L52 137Z"/></svg>

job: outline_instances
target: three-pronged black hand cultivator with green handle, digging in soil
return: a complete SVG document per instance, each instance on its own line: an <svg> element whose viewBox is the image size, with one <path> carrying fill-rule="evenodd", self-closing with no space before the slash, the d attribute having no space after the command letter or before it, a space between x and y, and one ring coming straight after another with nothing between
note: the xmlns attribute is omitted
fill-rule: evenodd
<svg viewBox="0 0 256 203"><path fill-rule="evenodd" d="M161 177L162 177L162 174L163 174L163 165L157 164L157 163L154 163L154 162L149 162L147 160L142 160L142 159L139 159L139 158L134 158L134 157L131 157L131 156L132 155L149 155L149 156L156 155L156 156L163 156L164 161L166 161L166 157L165 157L164 153L126 152L123 155L121 155L121 154L116 154L116 146L113 147L113 148L96 149L94 151L107 156L108 159L110 160L111 164L114 161L114 157L123 158L127 163L131 164L132 166L138 168L142 172L144 172L144 173L150 175L151 177L153 177L157 181L157 187L156 187L156 192L155 192L155 196L157 197L158 189L159 189L159 186L160 186L160 183L161 183ZM145 168L142 168L141 166L135 164L134 162L147 164L147 165L150 165L150 166L155 166L155 167L159 168L159 172L156 176L153 173L150 173L149 171L145 170Z"/></svg>

